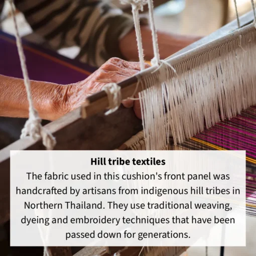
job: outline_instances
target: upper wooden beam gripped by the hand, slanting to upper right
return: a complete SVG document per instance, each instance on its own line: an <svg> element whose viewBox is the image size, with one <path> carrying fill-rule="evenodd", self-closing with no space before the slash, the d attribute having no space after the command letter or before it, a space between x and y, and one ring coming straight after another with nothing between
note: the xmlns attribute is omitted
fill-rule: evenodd
<svg viewBox="0 0 256 256"><path fill-rule="evenodd" d="M253 22L252 11L243 15L240 18L241 28L252 22ZM246 30L246 28L244 29ZM171 64L172 66L174 66L176 64L183 62L184 60L187 60L190 57L193 57L198 55L199 53L205 52L212 47L221 45L227 40L232 40L234 36L238 37L240 36L240 33L243 33L241 30L237 30L236 35L234 33L230 33L230 31L234 31L234 30L237 30L236 21L233 21L227 24L226 26L212 33L211 35L182 49L181 51L167 58L166 61L169 62L169 64ZM144 77L151 75L151 73L156 71L157 68L158 68L157 66L154 66L140 72L139 75L141 77L140 79L142 80L142 83L143 83ZM172 72L172 75L173 76L175 75L174 72ZM130 77L118 83L118 85L121 87L122 99L131 97L134 94L135 90L137 92L141 92L144 89L142 83L138 82L137 76ZM86 116L94 115L98 111L102 111L107 107L108 107L108 98L107 98L106 92L100 91L87 97L86 103L81 107L81 111L82 113L84 113L84 117L86 117Z"/></svg>

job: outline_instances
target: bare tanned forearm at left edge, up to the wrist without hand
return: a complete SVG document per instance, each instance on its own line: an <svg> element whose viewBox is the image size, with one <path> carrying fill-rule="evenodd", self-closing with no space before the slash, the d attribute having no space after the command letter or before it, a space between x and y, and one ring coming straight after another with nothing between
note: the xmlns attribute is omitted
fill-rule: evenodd
<svg viewBox="0 0 256 256"><path fill-rule="evenodd" d="M40 117L55 119L56 110L62 112L59 102L64 99L64 88L40 81L31 81L31 88ZM28 117L29 104L23 79L0 75L0 91L0 116Z"/></svg>

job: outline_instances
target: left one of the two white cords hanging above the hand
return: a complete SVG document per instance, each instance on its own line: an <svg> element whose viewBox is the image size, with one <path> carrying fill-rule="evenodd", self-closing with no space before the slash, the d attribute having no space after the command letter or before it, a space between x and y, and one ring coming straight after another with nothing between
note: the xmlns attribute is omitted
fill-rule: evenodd
<svg viewBox="0 0 256 256"><path fill-rule="evenodd" d="M140 66L141 66L141 70L144 70L145 62L144 62L144 54L143 54L143 47L142 47L142 34L141 34L139 10L143 11L143 6L147 4L147 1L146 0L120 0L120 3L122 5L130 4L132 6Z"/></svg>

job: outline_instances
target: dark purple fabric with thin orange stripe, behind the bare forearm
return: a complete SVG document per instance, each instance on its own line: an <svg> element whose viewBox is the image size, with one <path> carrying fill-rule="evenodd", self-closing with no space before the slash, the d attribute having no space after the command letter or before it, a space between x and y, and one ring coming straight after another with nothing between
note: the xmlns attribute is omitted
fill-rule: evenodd
<svg viewBox="0 0 256 256"><path fill-rule="evenodd" d="M24 46L32 80L70 84L84 80L96 70L42 47L27 42L24 42ZM0 32L0 74L23 78L16 41L3 32Z"/></svg>

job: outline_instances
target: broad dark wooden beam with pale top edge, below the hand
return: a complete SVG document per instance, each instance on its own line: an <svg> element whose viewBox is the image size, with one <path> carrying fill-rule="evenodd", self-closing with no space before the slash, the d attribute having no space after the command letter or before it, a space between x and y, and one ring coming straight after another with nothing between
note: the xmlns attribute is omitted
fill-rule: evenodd
<svg viewBox="0 0 256 256"><path fill-rule="evenodd" d="M142 130L133 108L120 107L110 115L86 119L76 109L45 127L53 133L55 150L113 150ZM44 150L42 141L19 140L0 151L0 224L10 218L10 150Z"/></svg>

